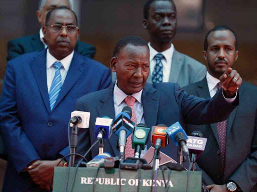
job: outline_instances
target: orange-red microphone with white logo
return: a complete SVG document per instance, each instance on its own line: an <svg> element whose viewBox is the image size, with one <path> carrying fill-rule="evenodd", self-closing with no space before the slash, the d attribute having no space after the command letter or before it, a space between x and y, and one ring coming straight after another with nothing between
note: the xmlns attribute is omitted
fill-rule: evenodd
<svg viewBox="0 0 257 192"><path fill-rule="evenodd" d="M169 143L169 137L166 133L166 128L167 126L165 124L152 126L151 142L157 150L159 150L161 147L165 147Z"/></svg>

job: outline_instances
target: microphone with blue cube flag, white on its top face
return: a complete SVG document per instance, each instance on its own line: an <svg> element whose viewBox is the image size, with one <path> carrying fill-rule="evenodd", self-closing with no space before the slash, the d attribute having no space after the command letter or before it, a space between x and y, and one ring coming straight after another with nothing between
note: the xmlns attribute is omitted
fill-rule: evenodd
<svg viewBox="0 0 257 192"><path fill-rule="evenodd" d="M95 138L98 138L98 139L110 138L111 130L112 130L111 124L112 124L112 118L108 116L103 116L102 118L97 117L95 120L95 129L94 129Z"/></svg>

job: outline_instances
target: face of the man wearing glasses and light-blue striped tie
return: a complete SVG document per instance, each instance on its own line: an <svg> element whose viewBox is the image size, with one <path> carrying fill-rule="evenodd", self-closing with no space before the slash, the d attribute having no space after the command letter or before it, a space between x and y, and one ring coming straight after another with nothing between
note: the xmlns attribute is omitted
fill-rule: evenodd
<svg viewBox="0 0 257 192"><path fill-rule="evenodd" d="M65 27L61 31L54 31L51 24L77 25L75 15L68 9L57 9L51 14L43 33L48 44L49 52L58 60L68 56L76 46L79 29L69 32Z"/></svg>

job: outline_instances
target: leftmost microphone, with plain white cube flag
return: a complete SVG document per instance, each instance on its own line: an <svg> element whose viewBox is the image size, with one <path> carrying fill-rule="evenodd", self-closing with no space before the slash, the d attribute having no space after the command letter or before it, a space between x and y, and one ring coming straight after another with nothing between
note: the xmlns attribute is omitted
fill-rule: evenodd
<svg viewBox="0 0 257 192"><path fill-rule="evenodd" d="M70 126L77 125L79 128L89 127L90 112L74 110L71 112Z"/></svg>

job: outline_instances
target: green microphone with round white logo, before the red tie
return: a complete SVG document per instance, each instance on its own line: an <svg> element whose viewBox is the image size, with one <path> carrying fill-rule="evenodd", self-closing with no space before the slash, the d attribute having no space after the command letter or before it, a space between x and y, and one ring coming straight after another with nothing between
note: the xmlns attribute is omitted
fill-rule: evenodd
<svg viewBox="0 0 257 192"><path fill-rule="evenodd" d="M139 123L133 130L132 148L135 148L135 157L139 158L141 151L145 149L150 128L144 123Z"/></svg>

